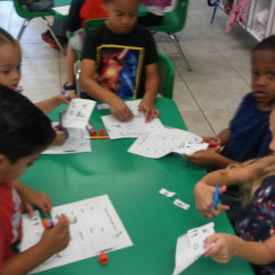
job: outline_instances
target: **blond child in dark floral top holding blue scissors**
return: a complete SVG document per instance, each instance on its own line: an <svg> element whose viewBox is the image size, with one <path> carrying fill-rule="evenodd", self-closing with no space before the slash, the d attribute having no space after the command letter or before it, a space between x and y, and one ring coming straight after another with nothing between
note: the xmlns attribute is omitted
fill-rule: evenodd
<svg viewBox="0 0 275 275"><path fill-rule="evenodd" d="M228 210L229 206L211 207L216 185L220 193L233 183L242 185L245 208L235 222L237 235L217 233L207 238L205 248L215 243L206 252L217 262L227 263L231 256L242 257L250 263L256 274L275 274L275 110L271 113L272 156L232 165L227 169L212 172L194 188L198 211L208 218Z"/></svg>

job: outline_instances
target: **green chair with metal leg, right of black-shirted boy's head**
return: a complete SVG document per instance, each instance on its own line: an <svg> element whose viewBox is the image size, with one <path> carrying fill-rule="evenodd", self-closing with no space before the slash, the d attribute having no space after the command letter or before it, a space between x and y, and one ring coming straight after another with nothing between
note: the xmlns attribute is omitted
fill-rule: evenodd
<svg viewBox="0 0 275 275"><path fill-rule="evenodd" d="M177 0L177 3L173 11L164 13L163 22L157 26L150 26L152 32L165 32L173 40L177 51L183 56L184 62L187 65L187 69L191 70L191 67L178 43L176 33L182 31L185 26L185 20L187 14L188 0Z"/></svg>

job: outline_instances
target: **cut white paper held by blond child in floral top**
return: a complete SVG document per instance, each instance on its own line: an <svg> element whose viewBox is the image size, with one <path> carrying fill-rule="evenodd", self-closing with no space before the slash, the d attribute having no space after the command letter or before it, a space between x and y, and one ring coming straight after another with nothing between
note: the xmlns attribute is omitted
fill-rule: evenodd
<svg viewBox="0 0 275 275"><path fill-rule="evenodd" d="M176 265L173 275L177 275L185 271L189 265L196 262L206 251L210 250L215 244L208 249L204 248L207 237L215 233L213 222L209 222L202 227L188 230L177 239L176 248Z"/></svg>

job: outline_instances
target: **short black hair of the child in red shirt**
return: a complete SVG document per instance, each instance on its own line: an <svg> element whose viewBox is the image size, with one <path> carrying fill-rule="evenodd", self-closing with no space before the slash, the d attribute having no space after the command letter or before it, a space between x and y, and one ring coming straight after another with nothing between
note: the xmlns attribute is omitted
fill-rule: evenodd
<svg viewBox="0 0 275 275"><path fill-rule="evenodd" d="M36 106L0 85L0 154L15 163L46 148L54 138L50 119Z"/></svg>

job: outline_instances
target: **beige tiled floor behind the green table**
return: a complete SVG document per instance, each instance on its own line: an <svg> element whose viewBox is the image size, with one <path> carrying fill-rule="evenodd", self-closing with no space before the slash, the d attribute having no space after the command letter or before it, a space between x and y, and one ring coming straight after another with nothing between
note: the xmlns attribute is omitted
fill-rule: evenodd
<svg viewBox="0 0 275 275"><path fill-rule="evenodd" d="M220 10L210 24L211 12L207 1L189 0L186 26L177 34L191 72L168 36L155 35L158 50L176 67L174 100L188 130L199 135L226 128L241 98L250 91L250 53L256 43L238 25L226 34L228 16ZM11 1L0 1L0 26L16 37L22 22ZM35 19L21 38L21 85L33 101L58 94L66 80L65 56L42 41L44 30L44 22Z"/></svg>

